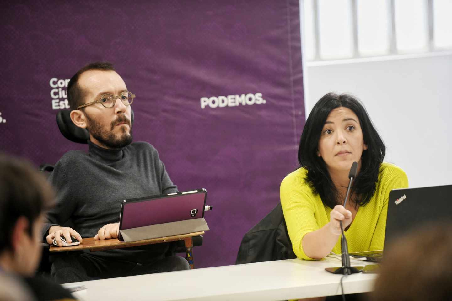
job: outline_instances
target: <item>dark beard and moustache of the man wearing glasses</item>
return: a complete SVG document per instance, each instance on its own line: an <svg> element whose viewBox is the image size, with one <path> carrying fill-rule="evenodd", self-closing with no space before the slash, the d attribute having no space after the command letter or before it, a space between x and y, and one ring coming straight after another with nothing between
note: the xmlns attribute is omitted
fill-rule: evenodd
<svg viewBox="0 0 452 301"><path fill-rule="evenodd" d="M115 120L112 121L110 125L110 130L105 130L100 122L96 119L91 119L87 114L85 114L88 120L86 125L86 130L91 134L97 141L105 145L108 148L123 148L132 143L132 125L130 120L124 114L119 115ZM121 126L122 135L118 138L113 133L114 127L118 123L126 123L130 127L130 132L127 134L127 130Z"/></svg>

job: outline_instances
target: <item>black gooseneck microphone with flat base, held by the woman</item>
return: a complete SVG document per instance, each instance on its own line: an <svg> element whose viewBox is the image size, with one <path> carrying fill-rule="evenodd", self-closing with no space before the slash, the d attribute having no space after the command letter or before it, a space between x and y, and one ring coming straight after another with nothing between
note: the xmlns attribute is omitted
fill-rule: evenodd
<svg viewBox="0 0 452 301"><path fill-rule="evenodd" d="M348 182L348 188L347 193L345 194L344 199L344 207L347 204L348 194L350 193L350 188L352 187L352 182L354 178L356 178L356 171L358 169L358 163L353 162L352 167L350 168L350 172L348 173L348 179L350 181ZM325 270L333 273L333 274L343 274L343 275L351 275L354 273L361 272L364 267L352 267L350 266L350 255L348 255L348 244L347 239L345 238L344 234L344 226L342 225L342 221L339 221L340 224L340 231L342 232L341 240L340 240L340 247L342 252L342 267L340 268L326 268Z"/></svg>

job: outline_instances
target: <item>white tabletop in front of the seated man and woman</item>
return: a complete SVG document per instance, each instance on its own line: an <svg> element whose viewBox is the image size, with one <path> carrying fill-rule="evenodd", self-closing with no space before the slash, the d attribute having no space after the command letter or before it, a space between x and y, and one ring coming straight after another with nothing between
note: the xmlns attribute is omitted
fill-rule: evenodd
<svg viewBox="0 0 452 301"><path fill-rule="evenodd" d="M369 263L352 260L354 266L365 264ZM84 301L275 301L339 295L342 275L324 269L340 265L340 260L332 258L320 261L287 259L73 282L64 286L85 285L86 290L74 292L75 297ZM363 273L346 276L344 292L370 292L375 278L375 274Z"/></svg>

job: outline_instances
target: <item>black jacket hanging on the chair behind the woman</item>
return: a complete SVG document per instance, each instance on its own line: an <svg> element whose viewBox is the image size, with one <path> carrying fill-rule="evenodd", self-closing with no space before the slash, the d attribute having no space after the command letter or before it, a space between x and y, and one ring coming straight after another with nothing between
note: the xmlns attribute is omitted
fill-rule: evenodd
<svg viewBox="0 0 452 301"><path fill-rule="evenodd" d="M281 203L246 232L235 264L297 258L287 234Z"/></svg>

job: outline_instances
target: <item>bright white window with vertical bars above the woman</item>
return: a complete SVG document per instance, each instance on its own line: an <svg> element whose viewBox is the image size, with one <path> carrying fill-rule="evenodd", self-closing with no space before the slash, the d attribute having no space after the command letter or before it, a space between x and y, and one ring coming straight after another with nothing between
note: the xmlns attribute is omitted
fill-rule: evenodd
<svg viewBox="0 0 452 301"><path fill-rule="evenodd" d="M452 50L451 0L300 0L306 58Z"/></svg>

